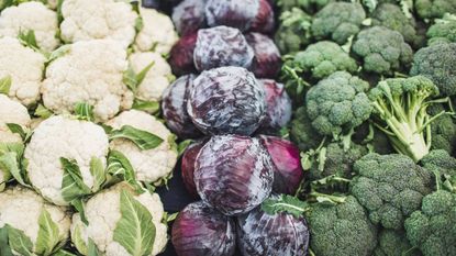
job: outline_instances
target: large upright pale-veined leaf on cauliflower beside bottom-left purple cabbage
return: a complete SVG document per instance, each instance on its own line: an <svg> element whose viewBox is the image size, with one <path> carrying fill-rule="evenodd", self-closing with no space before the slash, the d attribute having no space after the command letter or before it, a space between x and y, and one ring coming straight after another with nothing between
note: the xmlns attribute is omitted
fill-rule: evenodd
<svg viewBox="0 0 456 256"><path fill-rule="evenodd" d="M151 212L131 193L121 192L121 219L114 230L114 241L132 256L149 255L155 241Z"/></svg>

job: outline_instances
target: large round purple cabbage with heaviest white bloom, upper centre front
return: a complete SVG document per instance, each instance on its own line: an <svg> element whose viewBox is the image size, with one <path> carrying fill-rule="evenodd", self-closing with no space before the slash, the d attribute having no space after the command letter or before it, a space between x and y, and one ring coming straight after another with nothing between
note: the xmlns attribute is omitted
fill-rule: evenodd
<svg viewBox="0 0 456 256"><path fill-rule="evenodd" d="M265 89L245 68L211 69L194 79L187 110L205 134L251 135L265 114Z"/></svg>

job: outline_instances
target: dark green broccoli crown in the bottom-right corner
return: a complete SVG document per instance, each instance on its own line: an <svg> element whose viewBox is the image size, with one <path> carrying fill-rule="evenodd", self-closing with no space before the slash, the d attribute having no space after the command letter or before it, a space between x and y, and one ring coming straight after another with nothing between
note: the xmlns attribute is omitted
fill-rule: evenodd
<svg viewBox="0 0 456 256"><path fill-rule="evenodd" d="M424 256L456 255L456 193L438 190L423 198L405 220L407 237Z"/></svg>

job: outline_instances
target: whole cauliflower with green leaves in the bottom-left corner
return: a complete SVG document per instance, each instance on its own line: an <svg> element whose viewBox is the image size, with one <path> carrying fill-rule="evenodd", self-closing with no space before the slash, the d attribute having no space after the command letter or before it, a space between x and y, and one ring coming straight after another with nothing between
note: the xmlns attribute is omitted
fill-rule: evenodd
<svg viewBox="0 0 456 256"><path fill-rule="evenodd" d="M0 230L7 230L13 255L46 256L59 249L69 236L66 210L22 187L0 193ZM9 254L1 251L1 255Z"/></svg>

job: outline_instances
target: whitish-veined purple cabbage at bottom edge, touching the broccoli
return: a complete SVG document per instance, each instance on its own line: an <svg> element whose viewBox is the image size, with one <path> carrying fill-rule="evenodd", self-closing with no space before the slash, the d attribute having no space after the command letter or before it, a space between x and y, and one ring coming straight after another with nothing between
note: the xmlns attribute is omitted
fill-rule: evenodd
<svg viewBox="0 0 456 256"><path fill-rule="evenodd" d="M285 212L269 215L258 207L237 216L236 224L237 244L243 255L308 254L309 226L304 218L296 218Z"/></svg>

